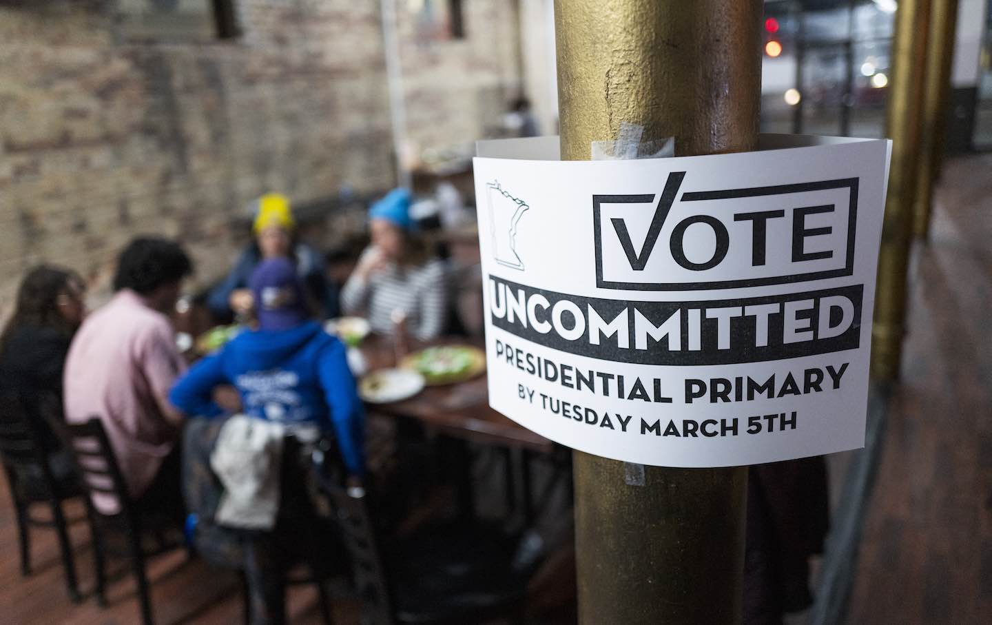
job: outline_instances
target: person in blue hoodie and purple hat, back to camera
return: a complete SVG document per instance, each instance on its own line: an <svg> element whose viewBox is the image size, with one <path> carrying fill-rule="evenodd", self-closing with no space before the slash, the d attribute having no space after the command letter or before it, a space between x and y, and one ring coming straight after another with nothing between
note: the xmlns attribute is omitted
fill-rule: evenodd
<svg viewBox="0 0 992 625"><path fill-rule="evenodd" d="M223 413L213 390L231 384L242 412L290 431L331 431L348 472L365 470L364 412L345 346L310 319L304 287L286 258L263 261L251 276L259 327L238 334L193 365L169 395L189 416Z"/></svg>

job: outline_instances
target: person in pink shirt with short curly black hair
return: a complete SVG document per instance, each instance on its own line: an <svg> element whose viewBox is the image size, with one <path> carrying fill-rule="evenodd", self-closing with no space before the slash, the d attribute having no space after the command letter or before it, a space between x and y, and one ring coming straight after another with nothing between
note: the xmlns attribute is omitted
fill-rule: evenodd
<svg viewBox="0 0 992 625"><path fill-rule="evenodd" d="M132 241L118 258L113 299L86 317L73 337L63 379L66 422L98 418L132 499L178 519L183 415L167 398L186 363L167 313L191 271L177 243ZM106 514L118 510L109 496L93 503Z"/></svg>

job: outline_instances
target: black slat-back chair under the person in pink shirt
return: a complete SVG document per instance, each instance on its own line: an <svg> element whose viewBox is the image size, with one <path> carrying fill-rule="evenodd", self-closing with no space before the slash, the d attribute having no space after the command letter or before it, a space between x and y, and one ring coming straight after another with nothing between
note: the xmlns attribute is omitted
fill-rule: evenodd
<svg viewBox="0 0 992 625"><path fill-rule="evenodd" d="M145 573L145 562L161 554L184 547L182 532L177 540L167 540L170 530L178 530L171 518L159 518L143 513L128 494L127 484L121 475L113 448L103 425L98 419L90 419L85 424L65 426L67 442L75 456L81 482L86 491L86 508L93 527L93 564L96 576L96 597L101 606L106 605L105 560L108 553L123 556L130 560L131 571L138 584L138 598L141 602L141 619L145 625L152 625L152 601ZM93 496L109 496L118 502L118 511L113 514L101 512L92 503ZM122 549L113 551L111 537L123 538ZM145 549L143 539L154 539L153 549Z"/></svg>

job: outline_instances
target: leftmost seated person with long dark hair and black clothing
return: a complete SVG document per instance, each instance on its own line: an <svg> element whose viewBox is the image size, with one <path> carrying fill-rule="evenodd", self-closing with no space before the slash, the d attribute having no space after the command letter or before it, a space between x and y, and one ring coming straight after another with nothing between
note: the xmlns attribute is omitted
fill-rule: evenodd
<svg viewBox="0 0 992 625"><path fill-rule="evenodd" d="M62 371L69 341L86 313L85 293L72 270L35 267L21 282L14 313L0 334L0 397L8 407L0 420L17 410L36 425L57 480L71 474L72 462L50 424L63 419Z"/></svg>

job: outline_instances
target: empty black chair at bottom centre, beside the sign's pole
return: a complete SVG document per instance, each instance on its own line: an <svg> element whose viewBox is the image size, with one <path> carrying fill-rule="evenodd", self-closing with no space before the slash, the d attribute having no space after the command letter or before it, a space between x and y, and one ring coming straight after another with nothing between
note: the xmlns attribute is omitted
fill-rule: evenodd
<svg viewBox="0 0 992 625"><path fill-rule="evenodd" d="M314 452L314 467L351 557L363 623L523 622L531 566L514 562L516 536L457 521L380 544L364 491L344 486L335 456Z"/></svg>

